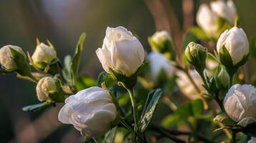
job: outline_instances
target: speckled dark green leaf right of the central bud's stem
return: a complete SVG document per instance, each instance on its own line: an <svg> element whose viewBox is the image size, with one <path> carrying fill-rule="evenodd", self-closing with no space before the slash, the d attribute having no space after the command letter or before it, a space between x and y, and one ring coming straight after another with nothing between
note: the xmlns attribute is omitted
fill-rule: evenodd
<svg viewBox="0 0 256 143"><path fill-rule="evenodd" d="M161 89L156 89L152 92L149 92L148 99L146 100L146 104L141 114L141 132L144 132L148 127L148 124L151 122L153 113L155 112L156 109L156 105L158 104L158 100L161 98L162 94L163 92L161 91Z"/></svg>

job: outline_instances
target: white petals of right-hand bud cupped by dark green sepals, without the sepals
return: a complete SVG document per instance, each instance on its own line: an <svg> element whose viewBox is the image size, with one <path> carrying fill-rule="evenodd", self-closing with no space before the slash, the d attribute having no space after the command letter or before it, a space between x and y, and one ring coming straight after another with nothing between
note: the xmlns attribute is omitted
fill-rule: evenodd
<svg viewBox="0 0 256 143"><path fill-rule="evenodd" d="M232 29L224 31L217 41L217 51L221 51L225 46L231 56L233 65L239 63L244 56L249 54L248 39L243 29L234 26Z"/></svg>

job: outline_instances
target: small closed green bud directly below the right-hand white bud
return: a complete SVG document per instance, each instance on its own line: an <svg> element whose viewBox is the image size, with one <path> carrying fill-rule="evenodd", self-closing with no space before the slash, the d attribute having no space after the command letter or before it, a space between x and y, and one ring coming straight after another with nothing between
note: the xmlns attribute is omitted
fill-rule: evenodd
<svg viewBox="0 0 256 143"><path fill-rule="evenodd" d="M229 74L224 66L219 66L214 78L218 89L227 89L229 87Z"/></svg>

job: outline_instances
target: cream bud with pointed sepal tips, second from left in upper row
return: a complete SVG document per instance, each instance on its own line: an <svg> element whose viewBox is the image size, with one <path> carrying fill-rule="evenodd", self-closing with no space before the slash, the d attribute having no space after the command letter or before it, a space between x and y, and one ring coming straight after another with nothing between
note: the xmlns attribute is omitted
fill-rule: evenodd
<svg viewBox="0 0 256 143"><path fill-rule="evenodd" d="M53 59L57 59L55 49L52 46L47 46L44 43L37 45L37 48L32 55L34 66L42 70L44 70L44 68L50 64Z"/></svg>

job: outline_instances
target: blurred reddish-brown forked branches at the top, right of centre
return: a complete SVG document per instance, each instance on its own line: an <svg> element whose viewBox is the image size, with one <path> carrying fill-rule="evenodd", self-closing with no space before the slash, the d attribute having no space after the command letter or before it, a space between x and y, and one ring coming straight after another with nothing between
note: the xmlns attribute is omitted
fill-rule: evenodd
<svg viewBox="0 0 256 143"><path fill-rule="evenodd" d="M169 0L144 0L148 9L151 11L156 24L156 31L166 30L171 33L176 45L176 53L180 56L183 51L182 42L186 32L194 25L194 1L182 1L184 24L183 28L179 23L176 12Z"/></svg>

